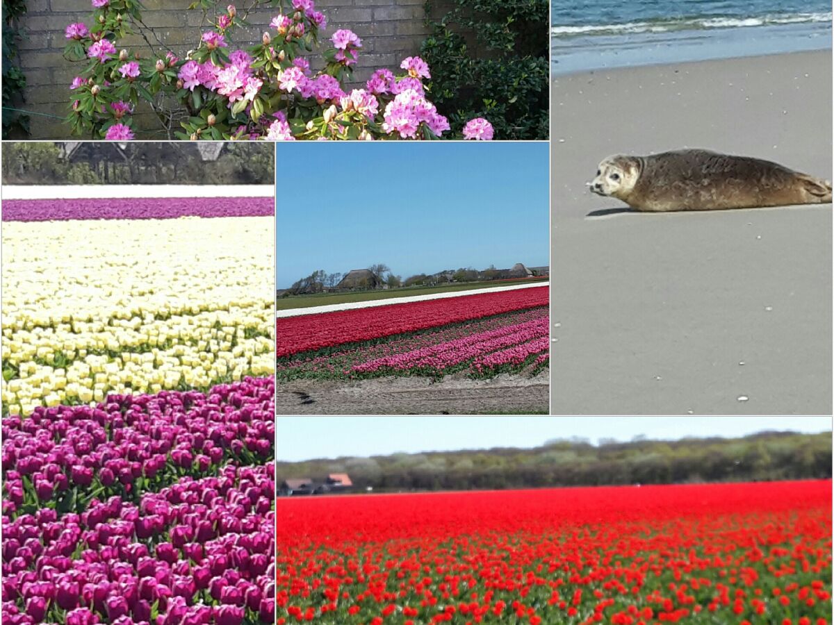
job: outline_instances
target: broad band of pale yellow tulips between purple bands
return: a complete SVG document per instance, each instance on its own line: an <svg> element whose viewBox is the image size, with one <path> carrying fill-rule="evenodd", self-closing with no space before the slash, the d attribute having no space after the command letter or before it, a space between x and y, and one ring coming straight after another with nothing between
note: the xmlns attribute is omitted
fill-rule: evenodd
<svg viewBox="0 0 834 625"><path fill-rule="evenodd" d="M272 218L4 223L4 408L272 375L273 249Z"/></svg>

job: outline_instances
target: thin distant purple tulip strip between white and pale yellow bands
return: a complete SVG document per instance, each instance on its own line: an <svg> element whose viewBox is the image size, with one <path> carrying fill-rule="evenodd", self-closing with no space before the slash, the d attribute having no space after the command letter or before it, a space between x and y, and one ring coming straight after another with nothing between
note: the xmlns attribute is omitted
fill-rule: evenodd
<svg viewBox="0 0 834 625"><path fill-rule="evenodd" d="M4 222L272 217L274 214L272 198L94 198L3 202Z"/></svg>

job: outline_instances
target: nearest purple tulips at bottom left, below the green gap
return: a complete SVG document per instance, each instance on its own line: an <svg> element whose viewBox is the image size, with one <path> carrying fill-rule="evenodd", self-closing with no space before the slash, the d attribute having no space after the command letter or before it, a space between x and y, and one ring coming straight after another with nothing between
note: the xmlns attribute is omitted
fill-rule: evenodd
<svg viewBox="0 0 834 625"><path fill-rule="evenodd" d="M274 622L274 465L3 516L3 622Z"/></svg>

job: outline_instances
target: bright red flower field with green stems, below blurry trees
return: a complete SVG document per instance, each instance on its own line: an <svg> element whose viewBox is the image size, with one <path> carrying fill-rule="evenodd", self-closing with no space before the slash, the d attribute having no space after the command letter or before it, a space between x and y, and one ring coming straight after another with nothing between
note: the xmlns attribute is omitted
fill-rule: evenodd
<svg viewBox="0 0 834 625"><path fill-rule="evenodd" d="M279 499L277 622L831 622L831 481Z"/></svg>

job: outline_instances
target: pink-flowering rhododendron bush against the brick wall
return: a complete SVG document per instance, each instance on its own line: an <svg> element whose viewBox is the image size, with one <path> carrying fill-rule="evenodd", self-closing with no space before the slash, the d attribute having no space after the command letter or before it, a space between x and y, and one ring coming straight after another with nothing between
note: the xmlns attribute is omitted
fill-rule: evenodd
<svg viewBox="0 0 834 625"><path fill-rule="evenodd" d="M275 3L255 0L253 7ZM206 8L213 2L199 4ZM450 129L428 99L422 81L430 78L430 68L420 57L405 58L399 76L379 69L364 88L348 92L344 84L362 41L341 29L330 37L324 69L311 72L301 54L319 44L327 25L313 0L292 0L286 13L273 18L262 42L246 49L231 45L234 30L245 21L229 5L185 58L172 52L131 57L118 50L116 44L141 21L138 0L93 0L93 7L92 27L73 23L65 32L64 56L86 63L70 85L68 122L74 133L131 139L138 102L160 112L164 97L173 98L187 116L178 138L433 139ZM472 120L463 136L492 138L490 122Z"/></svg>

